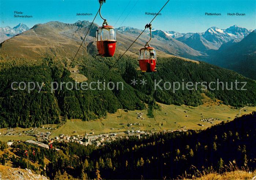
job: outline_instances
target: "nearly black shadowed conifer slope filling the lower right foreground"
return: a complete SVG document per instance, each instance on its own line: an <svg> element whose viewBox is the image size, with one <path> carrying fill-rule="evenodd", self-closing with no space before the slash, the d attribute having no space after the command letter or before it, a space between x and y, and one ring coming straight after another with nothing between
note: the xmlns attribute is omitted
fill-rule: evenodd
<svg viewBox="0 0 256 180"><path fill-rule="evenodd" d="M233 160L238 167L255 169L255 130L254 112L202 131L115 141L93 151L90 157L98 157L94 164L98 161L100 174L106 179L175 179L185 172L222 171ZM111 159L112 167L101 166L107 159Z"/></svg>

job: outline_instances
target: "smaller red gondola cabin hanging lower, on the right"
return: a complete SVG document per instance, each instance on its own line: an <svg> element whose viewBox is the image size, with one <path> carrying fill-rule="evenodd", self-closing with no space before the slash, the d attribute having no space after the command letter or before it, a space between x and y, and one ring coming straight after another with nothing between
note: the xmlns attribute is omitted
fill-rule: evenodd
<svg viewBox="0 0 256 180"><path fill-rule="evenodd" d="M153 47L140 49L139 64L142 72L151 73L156 67L156 50Z"/></svg>

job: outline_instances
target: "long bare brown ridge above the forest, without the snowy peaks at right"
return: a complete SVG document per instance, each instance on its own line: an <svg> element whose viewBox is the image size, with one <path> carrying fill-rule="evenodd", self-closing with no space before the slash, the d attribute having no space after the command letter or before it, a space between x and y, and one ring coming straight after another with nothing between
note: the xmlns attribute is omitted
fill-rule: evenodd
<svg viewBox="0 0 256 180"><path fill-rule="evenodd" d="M74 24L58 21L36 24L30 30L1 43L1 52L29 59L45 55L71 58L77 51L89 25L89 21L77 21ZM78 55L85 55L86 53L97 54L95 37L98 27L95 23L92 25L84 41L85 48L81 48ZM142 31L132 27L120 27L116 30L116 54L123 53ZM127 54L137 57L140 48L144 47L148 40L149 35L146 32L143 33ZM176 55L190 59L198 59L203 56L199 51L172 37L163 39L161 36L156 35L150 44L157 49L158 56ZM13 51L14 47L16 51Z"/></svg>

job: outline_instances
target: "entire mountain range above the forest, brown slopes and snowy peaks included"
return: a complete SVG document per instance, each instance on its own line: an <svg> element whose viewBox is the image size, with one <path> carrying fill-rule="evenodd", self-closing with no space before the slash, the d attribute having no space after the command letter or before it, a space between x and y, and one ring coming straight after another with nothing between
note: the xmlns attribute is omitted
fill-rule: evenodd
<svg viewBox="0 0 256 180"><path fill-rule="evenodd" d="M0 51L1 54L29 59L41 56L72 58L89 25L89 21L77 21L74 24L51 21L45 24L36 24L31 29L21 23L12 29L10 27L1 28L1 40L2 36L4 38L12 36L12 38L0 44ZM92 25L84 41L84 48L80 49L78 55L97 54L95 36L98 27L95 23ZM141 32L142 30L133 27L116 28L116 54L125 52ZM255 32L237 25L227 29L211 27L203 33L185 34L152 30L153 38L150 44L156 48L157 56L179 56L203 60L255 79L256 70L247 71L247 67L244 65L246 64L244 62L255 62L252 58L255 56L256 43L253 35L248 36L248 34L255 34ZM241 41L247 36L246 40ZM144 47L149 38L149 31L146 30L126 54L137 57L139 49ZM244 47L243 50L240 46ZM13 51L14 47L15 51ZM238 64L240 64L239 67L237 67Z"/></svg>

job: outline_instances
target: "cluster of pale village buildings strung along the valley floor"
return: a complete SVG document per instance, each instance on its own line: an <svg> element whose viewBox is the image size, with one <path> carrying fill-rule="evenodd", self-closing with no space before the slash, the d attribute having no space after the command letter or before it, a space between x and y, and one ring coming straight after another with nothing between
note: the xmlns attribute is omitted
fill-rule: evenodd
<svg viewBox="0 0 256 180"><path fill-rule="evenodd" d="M133 125L139 125L139 124L127 124L127 126L133 126ZM42 126L41 128L44 128L44 126ZM76 134L76 135L68 135L68 134L60 134L59 136L56 137L51 137L51 133L52 130L54 129L49 129L50 131L46 131L46 132L39 132L38 130L36 130L37 128L32 128L28 131L25 131L25 134L28 134L29 136L33 136L34 140L26 140L25 144L27 145L31 145L31 146L37 146L40 148L45 148L45 149L55 149L55 150L59 150L55 147L52 147L52 143L54 141L57 142L77 142L78 144L81 145L95 145L96 147L99 146L104 146L105 143L109 143L118 139L122 139L122 138L126 138L129 139L130 136L137 136L138 138L143 138L148 134L153 134L153 133L159 133L159 131L141 131L141 130L127 130L125 132L114 132L114 133L105 133L105 134L94 134L94 132L91 132L90 134ZM163 130L163 132L174 132L174 131L186 131L187 129L185 128L180 128L178 130ZM92 129L93 131L93 129ZM76 133L76 132L74 132ZM13 128L8 128L7 129L7 133L5 134L5 136L12 136L15 134L19 134L19 136L22 136L22 133L17 133L15 132L15 129ZM23 135L25 136L25 135ZM48 144L44 144L42 142L49 142ZM14 141L9 141L7 142L8 146L11 146L14 143Z"/></svg>

